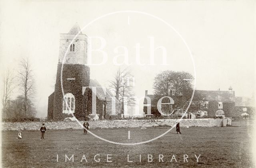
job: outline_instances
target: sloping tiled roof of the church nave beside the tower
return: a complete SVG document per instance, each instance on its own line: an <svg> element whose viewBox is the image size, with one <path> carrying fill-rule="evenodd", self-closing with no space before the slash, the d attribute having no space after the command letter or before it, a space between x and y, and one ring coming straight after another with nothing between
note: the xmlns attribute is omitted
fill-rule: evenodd
<svg viewBox="0 0 256 168"><path fill-rule="evenodd" d="M90 87L93 87L93 86L101 87L100 83L97 80L92 80L92 79L90 79L89 86ZM105 101L105 98L106 98L107 102L112 102L111 97L113 97L113 95L107 88L106 88L106 92L104 92L103 88L97 88L96 96L98 97L98 99L100 99L102 101ZM116 103L118 103L118 100L116 98L115 98L115 100L116 100Z"/></svg>

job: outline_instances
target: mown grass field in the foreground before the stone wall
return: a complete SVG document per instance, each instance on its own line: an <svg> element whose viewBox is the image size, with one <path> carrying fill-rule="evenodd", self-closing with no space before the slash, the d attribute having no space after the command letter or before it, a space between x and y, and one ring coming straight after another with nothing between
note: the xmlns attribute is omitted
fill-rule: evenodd
<svg viewBox="0 0 256 168"><path fill-rule="evenodd" d="M91 131L111 141L134 143L149 140L168 129L151 127ZM40 131L23 131L21 140L16 139L18 131L2 131L2 164L4 167L254 167L251 143L255 137L251 133L252 128L190 127L181 128L181 132L178 135L172 130L150 143L126 146L111 144L90 134L83 135L82 129L48 130L45 140L40 140ZM65 162L65 154L69 158L74 154L74 162ZM109 160L112 162L106 161L107 154L111 154ZM148 154L152 155L152 162L148 162ZM188 155L188 162L184 162L184 154ZM195 154L197 157L201 154L198 162ZM80 162L83 155L87 162L85 159ZM95 155L100 162L95 162ZM127 155L133 162L127 161ZM159 155L163 156L164 162L159 162ZM172 159L173 155L177 162Z"/></svg>

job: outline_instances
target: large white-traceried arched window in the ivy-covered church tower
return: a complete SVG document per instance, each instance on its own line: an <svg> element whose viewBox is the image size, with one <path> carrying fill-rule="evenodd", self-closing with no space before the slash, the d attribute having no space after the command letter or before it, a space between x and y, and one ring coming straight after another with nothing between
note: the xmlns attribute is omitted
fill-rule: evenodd
<svg viewBox="0 0 256 168"><path fill-rule="evenodd" d="M63 98L63 110L62 113L74 113L75 112L75 96L72 93L67 93Z"/></svg>

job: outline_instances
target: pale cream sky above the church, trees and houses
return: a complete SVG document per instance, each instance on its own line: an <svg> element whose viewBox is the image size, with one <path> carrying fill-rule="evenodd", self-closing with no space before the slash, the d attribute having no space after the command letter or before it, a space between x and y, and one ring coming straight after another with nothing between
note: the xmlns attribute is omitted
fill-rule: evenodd
<svg viewBox="0 0 256 168"><path fill-rule="evenodd" d="M118 13L128 10L137 13ZM113 60L124 53L125 47L138 97L144 96L145 90L153 94L154 77L163 70L190 72L196 76L198 90L228 90L232 86L236 96L251 97L255 93L253 0L1 1L0 75L2 78L7 69L19 70L23 57L30 60L38 117L46 117L48 96L54 92L59 34L68 33L76 22L82 29L106 14L82 30L88 37L106 40L102 50L108 61L101 66L90 65L91 78L102 86L109 86L108 80L118 68ZM150 37L154 37L155 48L166 49L167 65L162 65L161 49L155 50L155 65L150 65ZM101 41L94 39L92 47L97 49ZM136 63L137 43L143 47L140 63L145 65ZM121 57L119 63L124 61ZM102 54L95 51L92 59L100 63ZM0 93L2 97L2 89ZM13 97L18 94L17 88Z"/></svg>

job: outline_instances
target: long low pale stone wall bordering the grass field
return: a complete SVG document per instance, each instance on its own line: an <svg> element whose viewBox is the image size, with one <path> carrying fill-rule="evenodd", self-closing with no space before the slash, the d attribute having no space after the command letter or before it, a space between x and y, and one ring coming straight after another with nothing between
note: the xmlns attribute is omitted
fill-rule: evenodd
<svg viewBox="0 0 256 168"><path fill-rule="evenodd" d="M80 121L83 124L84 121ZM82 129L76 121L44 122L46 129ZM147 119L147 120L100 120L89 121L90 129L121 128L121 127L157 127L173 126L176 119ZM231 125L231 121L228 122ZM1 123L1 130L39 130L42 122ZM217 119L182 119L180 127L216 127Z"/></svg>

